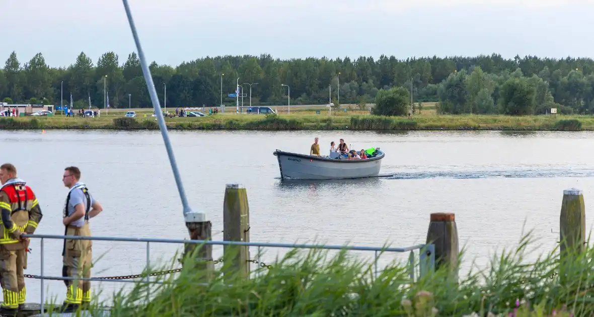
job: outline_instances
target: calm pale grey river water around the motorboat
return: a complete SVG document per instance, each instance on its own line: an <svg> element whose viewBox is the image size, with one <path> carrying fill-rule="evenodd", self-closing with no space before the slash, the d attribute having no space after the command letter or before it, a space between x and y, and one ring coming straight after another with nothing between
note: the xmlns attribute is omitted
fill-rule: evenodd
<svg viewBox="0 0 594 317"><path fill-rule="evenodd" d="M339 138L358 150L383 148L381 173L391 176L281 182L272 152L308 153L314 137L322 151ZM558 239L563 189L582 189L586 210L594 202L591 132L170 131L170 138L189 201L213 221L216 240L222 240L225 184L235 182L248 191L252 242L409 246L424 242L430 213L452 212L467 258L479 264L529 229L548 251ZM37 233L64 233L61 177L65 166L75 165L105 209L92 221L94 235L187 237L158 131L0 131L0 140L10 149L0 161L17 166L43 208ZM587 217L587 229L591 223ZM31 243L27 274L39 274L39 247ZM46 240L45 274L61 275L61 249L60 240ZM177 249L153 244L151 261L169 261ZM94 242L92 275L140 273L145 250L140 243ZM267 250L264 259L276 252ZM64 283L45 285L64 299ZM102 283L103 294L121 285ZM39 302L39 294L39 280L27 279L28 302Z"/></svg>

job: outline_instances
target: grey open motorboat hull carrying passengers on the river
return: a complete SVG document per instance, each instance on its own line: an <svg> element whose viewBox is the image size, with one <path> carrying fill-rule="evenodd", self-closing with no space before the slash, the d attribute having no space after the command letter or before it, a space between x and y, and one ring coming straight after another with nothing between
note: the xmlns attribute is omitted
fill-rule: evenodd
<svg viewBox="0 0 594 317"><path fill-rule="evenodd" d="M368 159L347 160L339 153L330 156L311 156L276 150L281 179L353 179L380 174L384 152L375 148Z"/></svg>

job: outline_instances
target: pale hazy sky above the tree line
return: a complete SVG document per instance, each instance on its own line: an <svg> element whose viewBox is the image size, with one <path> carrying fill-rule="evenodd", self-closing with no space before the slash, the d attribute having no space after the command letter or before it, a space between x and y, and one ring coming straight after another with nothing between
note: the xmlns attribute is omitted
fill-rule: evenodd
<svg viewBox="0 0 594 317"><path fill-rule="evenodd" d="M149 61L501 54L594 57L594 0L129 0ZM121 0L0 0L0 59L135 51ZM2 65L4 66L4 63Z"/></svg>

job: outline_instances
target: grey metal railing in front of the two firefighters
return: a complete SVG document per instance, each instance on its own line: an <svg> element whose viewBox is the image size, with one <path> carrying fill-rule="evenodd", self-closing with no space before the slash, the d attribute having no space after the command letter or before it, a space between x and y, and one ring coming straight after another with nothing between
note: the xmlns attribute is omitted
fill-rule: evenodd
<svg viewBox="0 0 594 317"><path fill-rule="evenodd" d="M213 241L213 240L182 240L182 239L156 239L156 238L134 238L134 237L84 237L84 236L59 236L53 234L22 234L24 237L40 239L40 275L29 275L27 277L36 278L40 280L41 284L41 313L43 315L43 309L45 305L45 293L44 284L45 280L62 280L62 281L112 281L119 283L138 283L141 280L124 280L115 278L84 278L84 277L58 277L51 275L44 275L44 239L59 239L59 240L92 240L92 241L119 241L119 242L143 242L146 243L146 274L129 275L129 276L143 276L146 277L145 283L162 283L160 281L150 281L150 243L173 243L173 244L195 244L195 245L236 245L236 246L252 246L258 248L257 261L248 259L248 261L261 262L261 249L262 248L290 248L290 249L320 249L320 250L347 250L347 251L366 251L374 252L374 277L378 276L378 259L380 258L380 252L410 252L408 265L409 275L411 281L415 281L415 250L419 250L419 277L428 274L428 272L434 271L435 268L435 245L433 244L421 244L408 246L405 248L390 248L390 247L375 247L375 246L339 246L339 245L308 245L308 244L292 244L292 243L270 243L270 242L234 242L234 241ZM172 270L179 271L179 270ZM147 295L148 297L148 295Z"/></svg>

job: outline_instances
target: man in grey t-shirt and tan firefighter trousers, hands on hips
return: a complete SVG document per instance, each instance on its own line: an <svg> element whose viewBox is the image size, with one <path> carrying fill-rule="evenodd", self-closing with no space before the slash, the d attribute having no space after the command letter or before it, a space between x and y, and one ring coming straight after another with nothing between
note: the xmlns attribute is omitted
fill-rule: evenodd
<svg viewBox="0 0 594 317"><path fill-rule="evenodd" d="M64 186L70 191L64 205L65 235L91 236L89 219L95 217L103 208L90 194L84 183L80 182L80 169L66 167L62 176ZM64 240L62 249L62 276L73 278L91 277L91 240ZM63 311L72 312L80 306L86 308L91 301L91 282L65 280L67 291Z"/></svg>

